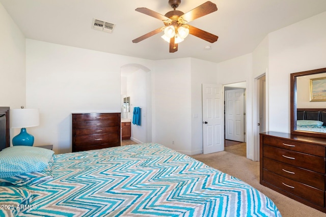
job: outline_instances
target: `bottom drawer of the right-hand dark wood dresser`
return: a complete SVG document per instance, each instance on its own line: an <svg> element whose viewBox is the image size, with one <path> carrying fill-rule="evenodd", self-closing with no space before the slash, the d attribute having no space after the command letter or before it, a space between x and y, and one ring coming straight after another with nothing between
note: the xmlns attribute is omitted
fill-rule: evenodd
<svg viewBox="0 0 326 217"><path fill-rule="evenodd" d="M291 180L278 174L263 170L263 180L275 187L324 207L324 191Z"/></svg>

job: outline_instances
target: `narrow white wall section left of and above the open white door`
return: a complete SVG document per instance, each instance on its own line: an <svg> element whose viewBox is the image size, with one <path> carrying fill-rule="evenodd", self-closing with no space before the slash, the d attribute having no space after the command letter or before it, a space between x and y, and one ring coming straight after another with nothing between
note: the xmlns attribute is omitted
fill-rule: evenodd
<svg viewBox="0 0 326 217"><path fill-rule="evenodd" d="M203 152L202 84L215 84L216 64L191 58L191 153Z"/></svg>

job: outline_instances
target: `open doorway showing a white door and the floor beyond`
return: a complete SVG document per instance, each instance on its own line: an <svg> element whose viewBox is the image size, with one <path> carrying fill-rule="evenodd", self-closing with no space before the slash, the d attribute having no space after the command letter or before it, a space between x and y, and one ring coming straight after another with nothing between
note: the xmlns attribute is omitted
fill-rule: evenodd
<svg viewBox="0 0 326 217"><path fill-rule="evenodd" d="M224 85L224 150L247 158L246 85L245 81Z"/></svg>

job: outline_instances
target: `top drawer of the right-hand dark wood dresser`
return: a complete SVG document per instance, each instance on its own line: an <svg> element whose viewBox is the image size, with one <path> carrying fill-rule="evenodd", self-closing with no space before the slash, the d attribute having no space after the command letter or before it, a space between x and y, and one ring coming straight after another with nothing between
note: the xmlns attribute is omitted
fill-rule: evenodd
<svg viewBox="0 0 326 217"><path fill-rule="evenodd" d="M263 144L325 157L325 146L275 137L264 137Z"/></svg>

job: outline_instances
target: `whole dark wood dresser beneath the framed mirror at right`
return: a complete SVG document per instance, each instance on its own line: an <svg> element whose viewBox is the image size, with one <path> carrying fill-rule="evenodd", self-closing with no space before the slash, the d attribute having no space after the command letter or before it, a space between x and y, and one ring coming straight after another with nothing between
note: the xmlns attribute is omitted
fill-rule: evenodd
<svg viewBox="0 0 326 217"><path fill-rule="evenodd" d="M322 212L326 139L287 133L260 134L260 183Z"/></svg>

